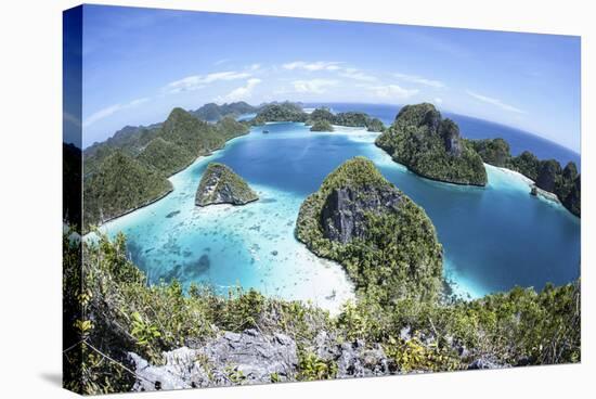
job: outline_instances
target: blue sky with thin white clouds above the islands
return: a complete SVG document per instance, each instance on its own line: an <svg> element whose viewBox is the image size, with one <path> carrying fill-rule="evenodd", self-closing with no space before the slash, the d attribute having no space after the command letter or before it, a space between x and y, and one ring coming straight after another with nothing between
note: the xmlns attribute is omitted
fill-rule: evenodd
<svg viewBox="0 0 596 399"><path fill-rule="evenodd" d="M85 146L174 106L290 100L428 101L580 150L579 37L86 5L82 53Z"/></svg>

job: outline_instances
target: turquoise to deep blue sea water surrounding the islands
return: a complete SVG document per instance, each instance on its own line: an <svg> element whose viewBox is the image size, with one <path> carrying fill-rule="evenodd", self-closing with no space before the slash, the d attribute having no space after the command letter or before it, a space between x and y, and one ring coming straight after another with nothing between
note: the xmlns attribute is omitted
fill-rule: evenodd
<svg viewBox="0 0 596 399"><path fill-rule="evenodd" d="M344 111L341 106L332 108ZM396 114L388 106L358 110L385 121ZM453 118L466 137L517 132L478 119ZM177 278L185 284L211 284L221 293L235 285L255 287L335 311L353 297L351 283L339 265L316 258L298 243L294 228L300 204L323 179L346 159L363 155L432 219L444 246L445 278L457 293L480 297L515 285L542 288L546 282L563 284L580 274L580 219L558 204L531 196L528 182L516 173L487 166L485 188L433 182L393 163L374 145L377 133L358 128L315 133L302 124L286 123L268 124L264 129L269 133L255 127L223 150L197 159L170 178L174 186L170 195L102 229L128 235L131 257L152 282ZM542 157L579 160L566 149L523 134L517 141L506 137L516 143L514 153L528 147L540 150ZM232 167L260 200L242 207L196 207L198 182L213 160Z"/></svg>

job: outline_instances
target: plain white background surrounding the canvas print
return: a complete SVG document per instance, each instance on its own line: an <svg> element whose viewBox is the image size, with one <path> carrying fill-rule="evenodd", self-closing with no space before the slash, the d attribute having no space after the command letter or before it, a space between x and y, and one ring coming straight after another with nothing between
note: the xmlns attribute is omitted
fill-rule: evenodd
<svg viewBox="0 0 596 399"><path fill-rule="evenodd" d="M596 28L588 1L127 0L204 11L582 36L583 361L374 379L145 394L152 398L585 397L596 375L594 158ZM61 378L62 10L3 1L0 12L0 396L74 397ZM8 221L8 223L7 223Z"/></svg>

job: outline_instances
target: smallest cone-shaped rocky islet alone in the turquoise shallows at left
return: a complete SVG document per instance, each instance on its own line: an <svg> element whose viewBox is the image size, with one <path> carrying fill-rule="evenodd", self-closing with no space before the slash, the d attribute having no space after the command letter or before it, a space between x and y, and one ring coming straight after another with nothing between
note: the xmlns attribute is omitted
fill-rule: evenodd
<svg viewBox="0 0 596 399"><path fill-rule="evenodd" d="M195 204L198 206L245 205L257 200L259 200L257 193L230 167L210 163L198 184Z"/></svg>

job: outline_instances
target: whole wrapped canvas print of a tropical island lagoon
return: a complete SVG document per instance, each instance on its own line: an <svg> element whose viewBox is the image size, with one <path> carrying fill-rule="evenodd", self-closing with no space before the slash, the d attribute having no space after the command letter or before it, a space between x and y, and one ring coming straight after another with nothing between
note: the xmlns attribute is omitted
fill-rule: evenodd
<svg viewBox="0 0 596 399"><path fill-rule="evenodd" d="M581 361L579 37L64 13L64 386Z"/></svg>

